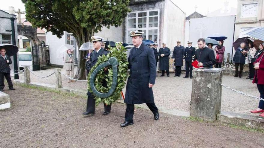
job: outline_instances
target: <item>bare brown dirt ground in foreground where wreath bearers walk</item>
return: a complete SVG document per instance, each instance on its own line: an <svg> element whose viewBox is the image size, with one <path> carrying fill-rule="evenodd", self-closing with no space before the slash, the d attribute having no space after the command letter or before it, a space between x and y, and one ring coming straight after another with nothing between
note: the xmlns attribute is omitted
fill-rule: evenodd
<svg viewBox="0 0 264 148"><path fill-rule="evenodd" d="M155 121L147 109L137 109L134 125L120 127L125 105L115 103L103 116L84 116L86 99L15 86L10 109L0 111L0 147L215 147L263 148L264 135L219 123L199 123L160 114Z"/></svg>

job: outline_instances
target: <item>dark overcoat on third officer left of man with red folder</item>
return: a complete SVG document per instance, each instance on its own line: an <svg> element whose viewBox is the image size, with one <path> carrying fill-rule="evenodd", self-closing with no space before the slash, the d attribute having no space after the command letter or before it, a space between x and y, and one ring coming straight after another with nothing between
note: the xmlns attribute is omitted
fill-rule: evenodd
<svg viewBox="0 0 264 148"><path fill-rule="evenodd" d="M161 57L161 54L165 54L165 56ZM160 70L166 70L166 71L169 70L170 69L170 66L169 66L170 49L167 47L165 47L164 49L160 48L158 55L160 57Z"/></svg>

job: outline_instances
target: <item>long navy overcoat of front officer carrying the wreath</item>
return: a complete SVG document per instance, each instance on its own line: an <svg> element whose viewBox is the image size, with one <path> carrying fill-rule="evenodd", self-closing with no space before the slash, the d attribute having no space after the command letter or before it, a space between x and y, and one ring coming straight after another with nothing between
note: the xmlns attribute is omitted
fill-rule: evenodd
<svg viewBox="0 0 264 148"><path fill-rule="evenodd" d="M125 103L142 104L154 103L152 88L149 83L155 84L156 62L153 49L143 43L136 50L133 47L128 57L128 77Z"/></svg>

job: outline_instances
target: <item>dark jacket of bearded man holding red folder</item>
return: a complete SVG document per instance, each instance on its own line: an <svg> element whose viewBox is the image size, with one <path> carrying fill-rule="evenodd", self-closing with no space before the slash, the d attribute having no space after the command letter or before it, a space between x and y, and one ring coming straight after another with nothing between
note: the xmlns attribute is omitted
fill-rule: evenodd
<svg viewBox="0 0 264 148"><path fill-rule="evenodd" d="M194 60L198 60L198 62L202 62L203 67L211 67L215 64L214 51L205 47L203 49L197 49L195 51Z"/></svg>

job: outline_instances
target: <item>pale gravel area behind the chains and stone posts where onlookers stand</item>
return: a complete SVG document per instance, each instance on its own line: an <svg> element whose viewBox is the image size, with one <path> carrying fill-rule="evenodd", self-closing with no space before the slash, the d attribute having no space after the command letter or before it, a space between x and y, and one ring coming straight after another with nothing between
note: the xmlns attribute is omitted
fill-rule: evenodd
<svg viewBox="0 0 264 148"><path fill-rule="evenodd" d="M53 71L54 70L43 70L34 71L33 73L40 76L47 76ZM65 70L62 70L62 72L66 74ZM160 75L160 73L158 75ZM153 87L155 103L157 106L167 109L176 109L188 112L190 109L189 102L191 99L192 79L183 78L184 74L182 74L181 77L173 77L173 75L174 73L172 73L170 77L156 77L156 83ZM223 84L259 97L256 84L252 84L252 80L245 78L246 77L234 78L233 76L224 75ZM20 79L24 79L23 75L20 75ZM48 78L39 78L31 74L31 81L55 85L55 75ZM62 76L62 84L63 86L67 86L69 88L84 91L87 87L86 82L67 83L67 78L64 76ZM250 114L249 111L251 109L255 109L257 106L258 100L242 96L241 94L222 88L222 111Z"/></svg>

